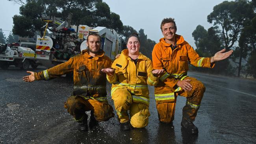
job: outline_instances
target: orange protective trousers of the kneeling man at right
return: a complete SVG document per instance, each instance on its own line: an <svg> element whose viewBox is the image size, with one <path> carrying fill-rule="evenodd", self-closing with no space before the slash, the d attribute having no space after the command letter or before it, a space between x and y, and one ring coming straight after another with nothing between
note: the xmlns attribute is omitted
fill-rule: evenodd
<svg viewBox="0 0 256 144"><path fill-rule="evenodd" d="M174 120L175 106L177 96L184 96L187 98L186 105L182 109L182 115L186 120L194 121L197 116L197 111L200 107L201 100L204 96L205 87L202 82L195 78L187 77L192 85L192 90L185 92L183 89L174 92L173 102L158 102L156 101L156 108L158 111L158 118L160 122L170 123Z"/></svg>

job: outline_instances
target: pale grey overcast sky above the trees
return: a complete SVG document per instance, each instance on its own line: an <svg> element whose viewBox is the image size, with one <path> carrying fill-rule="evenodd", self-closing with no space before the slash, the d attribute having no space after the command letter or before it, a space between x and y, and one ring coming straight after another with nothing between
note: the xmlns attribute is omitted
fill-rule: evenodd
<svg viewBox="0 0 256 144"><path fill-rule="evenodd" d="M8 0L0 0L0 28L6 37L13 27L14 15L19 15L19 5ZM144 29L148 39L156 42L163 37L160 24L163 18L175 18L177 34L182 35L195 47L192 32L200 24L207 30L213 24L207 22L207 15L213 7L224 0L103 0L110 11L117 13L123 25L132 26L139 31ZM9 30L9 31L8 31Z"/></svg>

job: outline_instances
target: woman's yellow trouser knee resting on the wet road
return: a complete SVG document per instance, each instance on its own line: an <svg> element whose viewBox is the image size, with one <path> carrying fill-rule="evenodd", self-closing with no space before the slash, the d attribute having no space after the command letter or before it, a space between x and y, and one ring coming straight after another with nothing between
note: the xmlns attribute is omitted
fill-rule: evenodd
<svg viewBox="0 0 256 144"><path fill-rule="evenodd" d="M130 123L135 128L143 128L148 125L148 117L150 116L148 106L143 103L136 103L130 109Z"/></svg>

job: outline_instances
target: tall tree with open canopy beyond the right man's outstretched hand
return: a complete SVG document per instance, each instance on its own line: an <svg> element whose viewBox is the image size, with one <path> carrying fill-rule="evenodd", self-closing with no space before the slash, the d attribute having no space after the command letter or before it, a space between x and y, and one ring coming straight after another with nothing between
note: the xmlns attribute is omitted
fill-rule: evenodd
<svg viewBox="0 0 256 144"><path fill-rule="evenodd" d="M245 23L254 15L252 5L247 0L224 1L221 4L213 7L213 12L208 15L208 22L214 22L215 30L220 36L220 41L223 42L224 48L229 50L234 47L235 42L239 39L239 35L243 30ZM241 39L241 41L243 41ZM242 45L233 48L234 54L232 59L238 63L238 74L241 71L241 59L246 57L247 48ZM236 62L236 57L239 57L239 62Z"/></svg>

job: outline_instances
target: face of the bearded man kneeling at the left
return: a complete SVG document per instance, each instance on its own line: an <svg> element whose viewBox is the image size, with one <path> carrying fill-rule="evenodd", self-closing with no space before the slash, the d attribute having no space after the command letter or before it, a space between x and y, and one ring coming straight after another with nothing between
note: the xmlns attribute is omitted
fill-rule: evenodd
<svg viewBox="0 0 256 144"><path fill-rule="evenodd" d="M90 53L98 54L100 50L100 38L95 35L89 35L87 37L87 47Z"/></svg>

